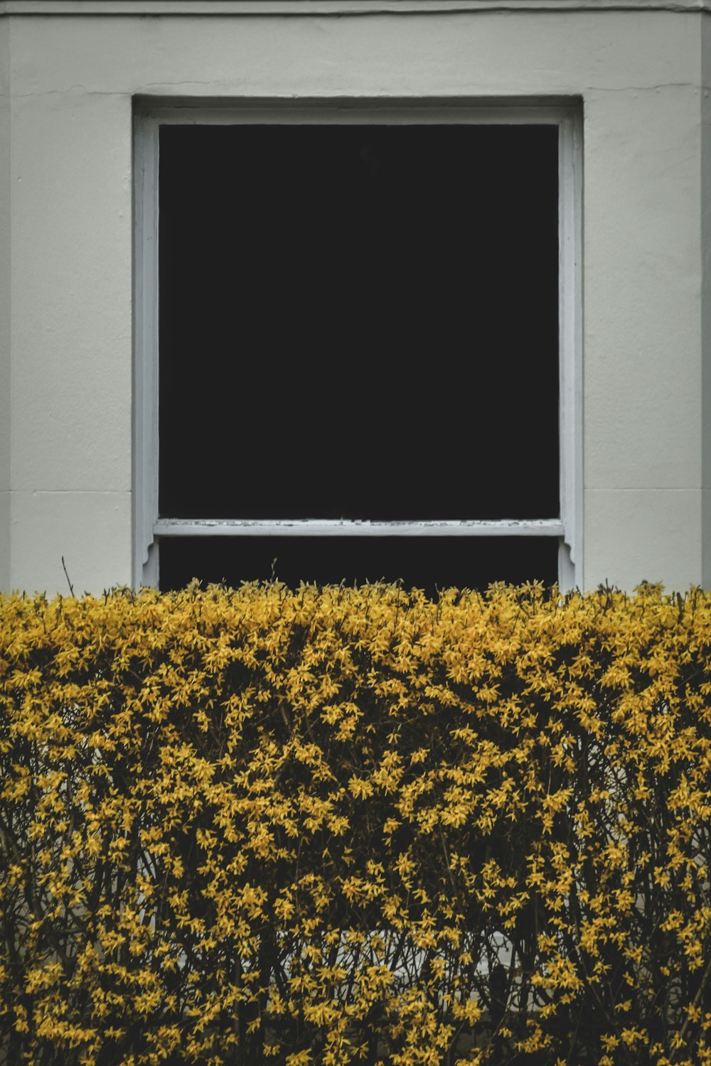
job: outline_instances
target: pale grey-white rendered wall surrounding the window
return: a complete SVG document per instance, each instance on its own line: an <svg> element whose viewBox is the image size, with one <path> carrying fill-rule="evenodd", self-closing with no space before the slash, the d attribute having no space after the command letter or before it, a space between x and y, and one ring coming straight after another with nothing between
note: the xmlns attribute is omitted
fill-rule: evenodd
<svg viewBox="0 0 711 1066"><path fill-rule="evenodd" d="M12 419L2 411L0 431L0 499L7 426L12 438L5 586L66 591L62 555L77 591L131 580L134 95L582 97L579 580L711 584L702 536L711 440L701 404L702 389L711 391L702 373L711 357L702 316L708 211L701 227L711 179L711 111L708 99L701 104L702 54L711 82L708 17L601 7L6 15L0 34L12 114L11 151L0 142L11 172L0 190L12 187L12 314L2 316L12 332ZM0 115L0 139L2 129ZM0 539L0 566L6 561Z"/></svg>

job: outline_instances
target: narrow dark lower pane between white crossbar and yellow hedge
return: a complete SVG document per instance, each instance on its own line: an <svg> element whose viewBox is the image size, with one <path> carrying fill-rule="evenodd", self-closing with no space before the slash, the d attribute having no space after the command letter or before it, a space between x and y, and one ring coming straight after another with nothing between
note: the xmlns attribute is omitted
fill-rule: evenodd
<svg viewBox="0 0 711 1066"><path fill-rule="evenodd" d="M160 587L192 578L237 586L269 580L291 587L402 580L429 596L448 587L484 589L492 581L558 580L555 537L166 537L160 545Z"/></svg>

